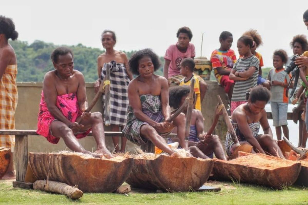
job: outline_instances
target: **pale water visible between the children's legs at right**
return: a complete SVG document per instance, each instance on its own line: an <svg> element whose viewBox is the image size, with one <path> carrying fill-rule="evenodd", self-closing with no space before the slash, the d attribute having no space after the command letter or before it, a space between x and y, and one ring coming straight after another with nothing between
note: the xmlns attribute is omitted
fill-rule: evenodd
<svg viewBox="0 0 308 205"><path fill-rule="evenodd" d="M292 109L294 107L296 107L296 105L289 104L288 112L292 112ZM270 104L266 104L265 110L266 112L271 112ZM273 120L268 120L268 121L270 124L270 128L272 129L272 132L273 132L273 137L274 139L277 140L275 127L273 126ZM297 147L298 146L298 124L295 124L293 120L288 120L288 128L289 128L289 140L290 142L292 142L292 144L294 144ZM264 134L262 128L260 128L259 134ZM282 132L282 136L283 136L283 132Z"/></svg>

